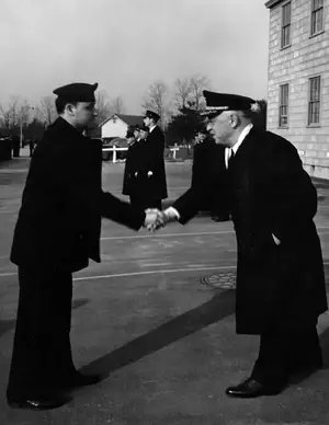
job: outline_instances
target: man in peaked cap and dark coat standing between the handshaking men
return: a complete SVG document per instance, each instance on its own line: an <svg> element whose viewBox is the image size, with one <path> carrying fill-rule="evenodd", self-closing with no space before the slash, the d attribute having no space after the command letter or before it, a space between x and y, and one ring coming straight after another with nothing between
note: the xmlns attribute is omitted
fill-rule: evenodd
<svg viewBox="0 0 329 425"><path fill-rule="evenodd" d="M161 200L168 197L164 169L164 136L157 125L160 116L146 111L144 124L148 136L143 141L138 179L143 186L146 208L161 209Z"/></svg>

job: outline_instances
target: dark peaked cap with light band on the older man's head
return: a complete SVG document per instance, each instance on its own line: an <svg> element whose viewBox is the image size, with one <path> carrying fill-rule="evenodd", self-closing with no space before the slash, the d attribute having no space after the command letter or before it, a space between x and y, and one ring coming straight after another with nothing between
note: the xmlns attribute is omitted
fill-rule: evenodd
<svg viewBox="0 0 329 425"><path fill-rule="evenodd" d="M258 112L259 104L251 97L239 94L216 93L208 90L203 91L206 100L206 108L202 115L218 115L223 111L253 111Z"/></svg>

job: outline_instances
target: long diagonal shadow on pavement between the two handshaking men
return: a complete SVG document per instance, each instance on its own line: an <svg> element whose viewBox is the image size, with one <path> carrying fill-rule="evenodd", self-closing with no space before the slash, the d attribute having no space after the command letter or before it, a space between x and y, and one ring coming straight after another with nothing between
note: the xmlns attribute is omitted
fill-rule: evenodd
<svg viewBox="0 0 329 425"><path fill-rule="evenodd" d="M114 352L81 368L86 374L100 374L103 379L111 372L157 352L215 323L235 312L235 290L215 295L204 305L181 314L154 331L128 342Z"/></svg>

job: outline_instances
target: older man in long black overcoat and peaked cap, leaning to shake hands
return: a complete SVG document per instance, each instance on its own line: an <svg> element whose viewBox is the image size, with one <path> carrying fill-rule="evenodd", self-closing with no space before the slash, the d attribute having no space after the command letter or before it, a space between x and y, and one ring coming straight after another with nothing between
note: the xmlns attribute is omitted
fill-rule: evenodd
<svg viewBox="0 0 329 425"><path fill-rule="evenodd" d="M276 394L296 372L322 366L317 334L327 310L322 255L314 223L317 193L296 148L252 126L258 103L204 91L208 129L226 147L230 214L237 238L236 328L260 335L251 376L230 397ZM186 223L205 191L191 187L158 226Z"/></svg>

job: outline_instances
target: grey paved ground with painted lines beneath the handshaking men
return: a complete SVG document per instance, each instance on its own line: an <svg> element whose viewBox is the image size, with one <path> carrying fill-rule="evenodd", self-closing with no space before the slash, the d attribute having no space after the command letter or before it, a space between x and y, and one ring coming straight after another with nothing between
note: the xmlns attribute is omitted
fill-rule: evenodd
<svg viewBox="0 0 329 425"><path fill-rule="evenodd" d="M29 161L0 164L0 425L329 424L327 313L319 321L322 370L296 378L276 397L225 395L226 387L249 375L259 340L235 334L235 291L201 282L225 280L236 264L231 222L214 223L206 215L156 234L104 220L102 263L75 275L71 340L77 367L106 378L54 411L9 409L18 279L8 256ZM189 187L191 163L166 166L174 199ZM123 170L122 163L104 164L104 189L121 196ZM329 277L329 183L315 184Z"/></svg>

